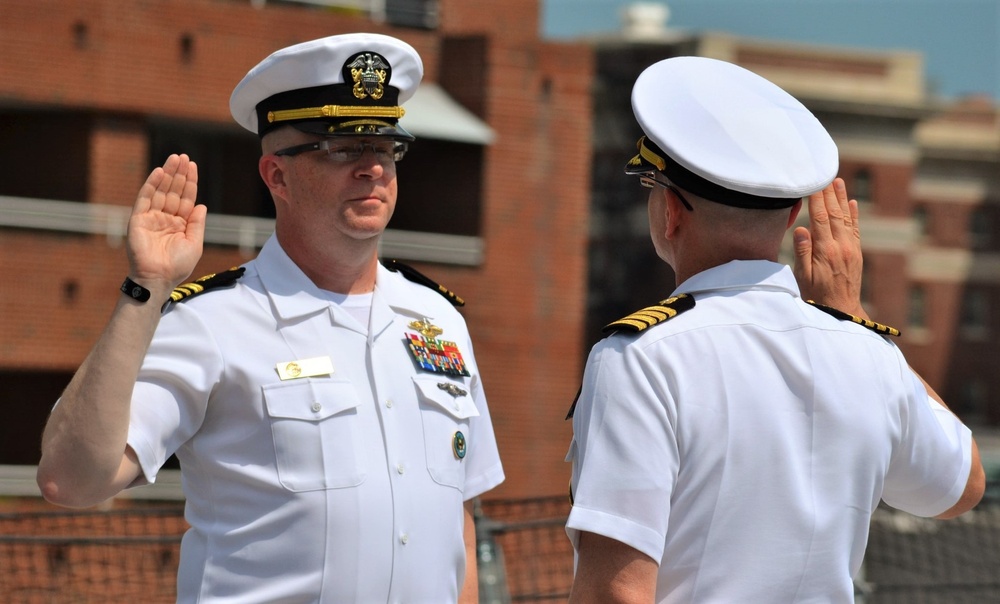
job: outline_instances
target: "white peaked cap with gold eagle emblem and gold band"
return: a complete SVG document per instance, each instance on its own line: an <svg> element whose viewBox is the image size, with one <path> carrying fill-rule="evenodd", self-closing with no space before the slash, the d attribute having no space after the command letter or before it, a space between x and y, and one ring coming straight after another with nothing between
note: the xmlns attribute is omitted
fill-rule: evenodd
<svg viewBox="0 0 1000 604"><path fill-rule="evenodd" d="M391 36L352 33L278 50L247 72L229 109L264 136L291 125L325 136L413 140L399 126L400 106L424 75L412 46Z"/></svg>

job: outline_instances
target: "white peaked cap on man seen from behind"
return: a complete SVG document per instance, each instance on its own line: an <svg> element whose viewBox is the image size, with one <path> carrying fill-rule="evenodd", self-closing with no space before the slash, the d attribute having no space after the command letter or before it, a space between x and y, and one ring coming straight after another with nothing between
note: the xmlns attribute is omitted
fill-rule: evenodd
<svg viewBox="0 0 1000 604"><path fill-rule="evenodd" d="M675 57L632 88L644 137L625 167L662 172L678 187L744 208L790 207L837 175L837 145L795 97L738 65Z"/></svg>

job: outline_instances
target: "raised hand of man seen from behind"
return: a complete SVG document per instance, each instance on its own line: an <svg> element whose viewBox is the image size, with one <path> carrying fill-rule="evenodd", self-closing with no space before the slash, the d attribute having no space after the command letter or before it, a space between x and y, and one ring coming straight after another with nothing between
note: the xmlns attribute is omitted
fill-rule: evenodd
<svg viewBox="0 0 1000 604"><path fill-rule="evenodd" d="M867 318L861 306L861 228L858 202L836 178L809 196L809 228L792 233L795 280L802 297Z"/></svg>

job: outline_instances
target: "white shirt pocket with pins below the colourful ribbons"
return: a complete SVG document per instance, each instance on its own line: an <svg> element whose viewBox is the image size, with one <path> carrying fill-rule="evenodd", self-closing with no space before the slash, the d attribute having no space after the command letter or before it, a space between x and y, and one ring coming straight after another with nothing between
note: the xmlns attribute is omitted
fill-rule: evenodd
<svg viewBox="0 0 1000 604"><path fill-rule="evenodd" d="M464 460L469 439L469 420L479 409L468 383L444 377L413 376L424 429L427 471L438 484L465 488Z"/></svg>

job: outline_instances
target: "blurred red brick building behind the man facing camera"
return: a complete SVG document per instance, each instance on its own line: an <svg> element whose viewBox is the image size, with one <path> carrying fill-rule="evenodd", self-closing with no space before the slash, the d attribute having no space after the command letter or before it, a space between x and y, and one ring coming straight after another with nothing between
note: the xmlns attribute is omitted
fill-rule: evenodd
<svg viewBox="0 0 1000 604"><path fill-rule="evenodd" d="M124 212L148 172L172 152L199 163L210 218L195 277L246 261L273 213L256 137L229 115L233 87L278 48L377 31L412 44L426 72L403 118L418 141L399 165L383 256L467 301L508 475L491 495L565 492L563 418L583 354L590 50L541 42L537 0L316 4L4 2L0 465L37 461L45 415L120 295Z"/></svg>

